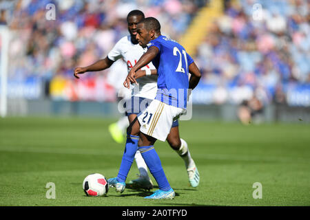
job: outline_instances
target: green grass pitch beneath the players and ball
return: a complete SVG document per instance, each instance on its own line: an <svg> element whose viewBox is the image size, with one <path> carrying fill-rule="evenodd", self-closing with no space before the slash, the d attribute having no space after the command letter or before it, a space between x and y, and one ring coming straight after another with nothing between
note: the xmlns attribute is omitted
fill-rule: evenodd
<svg viewBox="0 0 310 220"><path fill-rule="evenodd" d="M310 206L310 126L303 122L182 121L180 135L200 172L197 188L189 186L183 160L158 141L155 148L175 199L143 199L151 192L128 188L121 195L110 188L107 197L86 197L87 175L118 173L125 145L110 137L112 122L0 119L0 206ZM127 181L137 173L134 162ZM48 182L56 186L56 199L45 197ZM256 182L262 184L262 199L253 198Z"/></svg>

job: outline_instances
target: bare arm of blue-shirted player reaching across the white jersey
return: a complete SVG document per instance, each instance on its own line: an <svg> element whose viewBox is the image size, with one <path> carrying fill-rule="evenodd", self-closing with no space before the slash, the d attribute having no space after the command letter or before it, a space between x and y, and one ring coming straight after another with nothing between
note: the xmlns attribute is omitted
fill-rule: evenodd
<svg viewBox="0 0 310 220"><path fill-rule="evenodd" d="M138 69L141 69L142 67L147 65L149 62L151 62L157 56L158 52L159 52L159 50L157 47L154 47L154 46L149 47L147 52L145 52L145 54L143 54L141 56L141 58L138 60L138 62L136 62L134 67L132 67L132 69L130 69L129 74L127 75L125 82L123 83L124 87L129 89L130 83L136 83L136 78L134 77L136 74L136 71L138 71Z"/></svg>

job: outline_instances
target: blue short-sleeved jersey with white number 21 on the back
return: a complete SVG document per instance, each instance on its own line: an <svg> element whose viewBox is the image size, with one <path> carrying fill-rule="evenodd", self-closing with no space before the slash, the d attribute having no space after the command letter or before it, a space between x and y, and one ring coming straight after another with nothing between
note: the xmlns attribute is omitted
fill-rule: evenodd
<svg viewBox="0 0 310 220"><path fill-rule="evenodd" d="M166 36L149 41L147 47L155 46L159 53L152 63L157 69L156 100L174 107L186 109L189 87L188 67L194 61L184 47Z"/></svg>

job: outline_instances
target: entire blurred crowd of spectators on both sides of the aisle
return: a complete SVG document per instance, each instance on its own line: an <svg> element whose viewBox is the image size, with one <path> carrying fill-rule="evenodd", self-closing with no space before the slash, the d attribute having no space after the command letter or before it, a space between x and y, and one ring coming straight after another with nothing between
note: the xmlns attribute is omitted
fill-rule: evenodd
<svg viewBox="0 0 310 220"><path fill-rule="evenodd" d="M146 17L156 17L162 32L178 40L206 2L1 1L0 24L7 23L12 30L9 80L39 78L45 96L65 100L91 99L98 86L99 100L113 101L113 85L105 80L110 70L76 82L74 67L105 57L128 34L130 10L138 8ZM211 102L241 104L255 97L262 104L283 103L291 85L310 83L309 1L223 2L224 15L214 21L194 57L203 73L200 88L212 88ZM46 17L49 3L56 5L54 20Z"/></svg>

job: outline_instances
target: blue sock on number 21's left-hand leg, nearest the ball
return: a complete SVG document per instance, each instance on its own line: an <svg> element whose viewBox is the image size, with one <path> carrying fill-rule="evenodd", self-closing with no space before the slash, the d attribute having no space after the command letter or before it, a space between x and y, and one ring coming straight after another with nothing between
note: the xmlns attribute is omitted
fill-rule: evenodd
<svg viewBox="0 0 310 220"><path fill-rule="evenodd" d="M134 162L134 155L136 155L136 151L138 150L138 140L138 136L127 135L125 151L123 153L121 167L118 171L117 181L126 180L130 167L132 166L132 162Z"/></svg>

